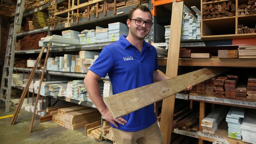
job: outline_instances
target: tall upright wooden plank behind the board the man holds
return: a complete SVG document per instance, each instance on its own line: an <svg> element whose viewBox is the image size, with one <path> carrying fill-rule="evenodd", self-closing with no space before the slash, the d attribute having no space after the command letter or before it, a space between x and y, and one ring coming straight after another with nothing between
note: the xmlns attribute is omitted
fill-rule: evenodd
<svg viewBox="0 0 256 144"><path fill-rule="evenodd" d="M169 39L169 50L167 58L166 75L173 78L178 74L178 60L180 51L180 38L183 19L183 4L184 2L173 2L171 30ZM188 86L188 85L187 85ZM171 131L173 126L175 95L163 100L162 113L160 121L160 130L163 135L164 144L171 143Z"/></svg>

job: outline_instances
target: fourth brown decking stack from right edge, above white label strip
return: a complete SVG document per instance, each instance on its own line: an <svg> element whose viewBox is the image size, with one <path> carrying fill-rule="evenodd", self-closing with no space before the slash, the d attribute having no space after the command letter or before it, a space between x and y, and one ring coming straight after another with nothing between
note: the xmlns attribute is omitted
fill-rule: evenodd
<svg viewBox="0 0 256 144"><path fill-rule="evenodd" d="M214 79L214 96L225 98L225 89L224 89L224 82L226 81L227 77L218 77Z"/></svg>

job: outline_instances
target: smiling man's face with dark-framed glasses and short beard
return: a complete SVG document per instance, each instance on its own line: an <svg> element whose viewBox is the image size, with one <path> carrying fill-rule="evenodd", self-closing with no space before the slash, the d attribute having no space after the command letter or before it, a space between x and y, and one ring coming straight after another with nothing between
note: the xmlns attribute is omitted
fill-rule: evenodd
<svg viewBox="0 0 256 144"><path fill-rule="evenodd" d="M132 19L139 19L144 21L152 22L152 17L149 12L136 9L132 15ZM135 39L143 40L148 33L150 28L146 27L145 23L142 26L137 26L135 20L127 20L127 25L130 28L129 34L132 35Z"/></svg>

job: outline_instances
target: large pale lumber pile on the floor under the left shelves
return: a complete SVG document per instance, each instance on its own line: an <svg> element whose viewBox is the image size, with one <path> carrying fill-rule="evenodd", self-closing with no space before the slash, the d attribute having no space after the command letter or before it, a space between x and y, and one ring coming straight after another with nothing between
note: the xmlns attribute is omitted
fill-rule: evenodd
<svg viewBox="0 0 256 144"><path fill-rule="evenodd" d="M76 130L100 120L100 116L101 114L95 108L76 105L58 109L56 118L60 126Z"/></svg>

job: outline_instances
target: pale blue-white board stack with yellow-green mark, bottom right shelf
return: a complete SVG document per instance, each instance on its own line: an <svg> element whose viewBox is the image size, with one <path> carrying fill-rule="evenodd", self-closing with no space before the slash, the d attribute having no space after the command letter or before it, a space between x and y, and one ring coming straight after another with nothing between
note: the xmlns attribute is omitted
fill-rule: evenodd
<svg viewBox="0 0 256 144"><path fill-rule="evenodd" d="M241 140L241 124L243 123L245 109L242 107L231 107L226 115L228 123L228 137Z"/></svg>

